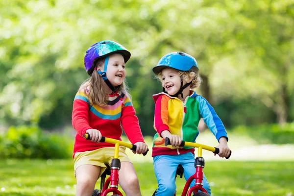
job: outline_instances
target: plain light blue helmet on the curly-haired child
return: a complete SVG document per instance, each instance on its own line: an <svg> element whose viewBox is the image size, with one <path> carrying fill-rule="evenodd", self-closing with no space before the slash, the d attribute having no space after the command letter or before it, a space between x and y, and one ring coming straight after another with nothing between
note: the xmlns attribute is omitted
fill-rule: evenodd
<svg viewBox="0 0 294 196"><path fill-rule="evenodd" d="M196 59L184 52L171 52L164 55L152 69L155 74L164 68L173 68L179 71L199 70Z"/></svg>

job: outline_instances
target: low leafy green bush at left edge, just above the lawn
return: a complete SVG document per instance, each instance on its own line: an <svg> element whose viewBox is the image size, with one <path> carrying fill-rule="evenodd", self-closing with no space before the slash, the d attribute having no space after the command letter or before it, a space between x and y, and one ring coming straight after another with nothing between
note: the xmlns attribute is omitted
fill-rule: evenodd
<svg viewBox="0 0 294 196"><path fill-rule="evenodd" d="M0 136L1 158L69 158L72 149L72 138L44 133L36 126L12 126Z"/></svg>

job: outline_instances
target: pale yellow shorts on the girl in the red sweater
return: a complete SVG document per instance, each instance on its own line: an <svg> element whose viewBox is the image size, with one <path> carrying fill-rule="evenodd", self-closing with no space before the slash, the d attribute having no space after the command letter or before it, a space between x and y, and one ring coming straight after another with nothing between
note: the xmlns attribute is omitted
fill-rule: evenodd
<svg viewBox="0 0 294 196"><path fill-rule="evenodd" d="M76 152L73 158L74 176L76 169L81 165L95 165L101 167L98 177L106 170L105 163L111 164L114 157L114 147L102 147L92 151ZM121 162L131 162L125 153L125 147L120 147L119 159Z"/></svg>

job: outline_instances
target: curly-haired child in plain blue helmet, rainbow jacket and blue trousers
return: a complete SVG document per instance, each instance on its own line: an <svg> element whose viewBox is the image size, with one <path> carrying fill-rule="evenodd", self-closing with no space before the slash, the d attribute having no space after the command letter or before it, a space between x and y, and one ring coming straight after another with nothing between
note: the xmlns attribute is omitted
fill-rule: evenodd
<svg viewBox="0 0 294 196"><path fill-rule="evenodd" d="M153 95L155 102L152 157L158 182L155 196L173 196L176 185L173 180L178 165L184 168L187 180L196 172L195 149L178 146L182 140L195 142L199 134L197 125L201 118L215 135L220 145L220 157L230 154L227 133L221 119L207 100L195 91L201 83L196 59L184 52L172 52L163 56L152 69L162 82L163 92ZM170 146L165 147L168 137ZM195 180L190 187L195 184ZM211 194L209 183L203 175L203 188Z"/></svg>

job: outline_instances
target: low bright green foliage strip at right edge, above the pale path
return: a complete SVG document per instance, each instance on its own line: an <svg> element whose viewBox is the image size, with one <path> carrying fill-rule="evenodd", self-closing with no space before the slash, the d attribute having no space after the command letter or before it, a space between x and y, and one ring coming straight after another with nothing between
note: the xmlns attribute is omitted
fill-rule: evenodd
<svg viewBox="0 0 294 196"><path fill-rule="evenodd" d="M248 135L258 144L293 144L294 141L294 123L286 123L282 126L278 124L238 126L232 132Z"/></svg>

